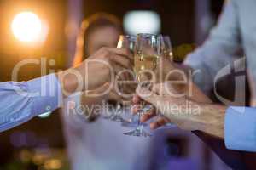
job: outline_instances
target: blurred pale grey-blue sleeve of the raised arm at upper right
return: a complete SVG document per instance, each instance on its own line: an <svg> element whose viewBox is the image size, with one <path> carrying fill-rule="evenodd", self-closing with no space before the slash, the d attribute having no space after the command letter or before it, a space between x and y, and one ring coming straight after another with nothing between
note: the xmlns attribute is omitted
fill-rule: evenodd
<svg viewBox="0 0 256 170"><path fill-rule="evenodd" d="M194 82L206 94L212 89L218 71L242 56L237 13L235 0L226 2L217 26L206 42L189 54L183 63L196 71Z"/></svg>

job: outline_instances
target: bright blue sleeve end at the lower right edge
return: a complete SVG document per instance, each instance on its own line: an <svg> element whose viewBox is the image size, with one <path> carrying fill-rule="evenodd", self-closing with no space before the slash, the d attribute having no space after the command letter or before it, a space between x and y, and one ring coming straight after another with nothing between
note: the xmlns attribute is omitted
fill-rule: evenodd
<svg viewBox="0 0 256 170"><path fill-rule="evenodd" d="M256 151L256 108L230 107L225 115L224 140L230 150Z"/></svg>

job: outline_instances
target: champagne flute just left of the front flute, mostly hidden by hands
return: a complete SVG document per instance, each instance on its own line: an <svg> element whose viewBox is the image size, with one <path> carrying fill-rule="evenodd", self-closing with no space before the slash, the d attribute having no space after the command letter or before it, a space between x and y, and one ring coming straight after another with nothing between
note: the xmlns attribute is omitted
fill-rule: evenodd
<svg viewBox="0 0 256 170"><path fill-rule="evenodd" d="M135 36L120 35L117 48L128 48L133 53L135 42L136 42L136 37ZM121 85L119 87L124 88ZM122 94L120 93L120 95L122 95ZM122 105L118 102L117 105L116 105L115 114L110 117L110 120L114 121L114 122L123 122L124 124L130 123L129 121L126 121L121 116L121 114L122 114Z"/></svg>

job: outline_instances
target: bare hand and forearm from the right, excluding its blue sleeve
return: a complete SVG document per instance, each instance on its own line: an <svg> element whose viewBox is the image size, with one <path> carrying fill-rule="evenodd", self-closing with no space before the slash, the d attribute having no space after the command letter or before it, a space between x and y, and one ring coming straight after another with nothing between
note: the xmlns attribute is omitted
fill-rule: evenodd
<svg viewBox="0 0 256 170"><path fill-rule="evenodd" d="M137 88L137 94L155 107L154 111L149 111L142 116L142 122L146 122L157 113L165 116L151 123L152 128L160 127L165 122L163 119L167 118L169 122L184 130L199 130L218 138L224 138L226 107L195 102L185 96L177 97L168 83L157 84L152 91Z"/></svg>

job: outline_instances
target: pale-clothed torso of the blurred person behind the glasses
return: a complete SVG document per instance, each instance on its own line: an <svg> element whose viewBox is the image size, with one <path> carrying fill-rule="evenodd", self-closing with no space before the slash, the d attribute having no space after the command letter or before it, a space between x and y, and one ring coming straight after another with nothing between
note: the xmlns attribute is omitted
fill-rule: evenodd
<svg viewBox="0 0 256 170"><path fill-rule="evenodd" d="M79 96L73 99L79 103ZM148 157L154 138L125 136L123 133L135 127L122 127L119 122L112 122L102 116L96 122L86 122L67 111L67 108L63 110L61 116L68 155L74 170L149 169L151 162ZM130 110L125 111L126 115Z"/></svg>

